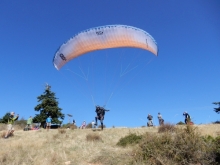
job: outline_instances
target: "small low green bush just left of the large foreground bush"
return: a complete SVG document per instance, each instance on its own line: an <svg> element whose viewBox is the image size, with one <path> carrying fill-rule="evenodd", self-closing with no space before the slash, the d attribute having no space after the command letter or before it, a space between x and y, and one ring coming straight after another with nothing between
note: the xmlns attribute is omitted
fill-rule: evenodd
<svg viewBox="0 0 220 165"><path fill-rule="evenodd" d="M127 145L138 144L138 142L142 139L141 135L136 135L134 133L130 133L129 135L121 138L119 142L116 144L118 146L125 147Z"/></svg>

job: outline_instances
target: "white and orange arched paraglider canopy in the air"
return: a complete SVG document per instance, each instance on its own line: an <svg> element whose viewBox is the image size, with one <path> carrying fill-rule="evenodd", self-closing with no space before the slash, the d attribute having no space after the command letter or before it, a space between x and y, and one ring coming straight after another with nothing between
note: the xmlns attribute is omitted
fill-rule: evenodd
<svg viewBox="0 0 220 165"><path fill-rule="evenodd" d="M53 64L59 70L85 53L118 47L140 48L158 55L157 43L146 31L127 25L107 25L87 29L69 39L56 52Z"/></svg>

